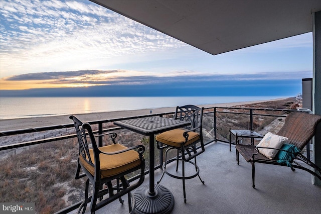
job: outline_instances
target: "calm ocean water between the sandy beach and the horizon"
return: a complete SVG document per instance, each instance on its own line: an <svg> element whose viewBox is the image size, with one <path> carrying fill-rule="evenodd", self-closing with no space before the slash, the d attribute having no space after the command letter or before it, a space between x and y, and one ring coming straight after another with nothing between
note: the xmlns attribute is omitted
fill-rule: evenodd
<svg viewBox="0 0 321 214"><path fill-rule="evenodd" d="M0 120L157 109L185 104L216 104L276 99L286 96L179 97L0 97ZM174 109L173 109L174 111Z"/></svg>

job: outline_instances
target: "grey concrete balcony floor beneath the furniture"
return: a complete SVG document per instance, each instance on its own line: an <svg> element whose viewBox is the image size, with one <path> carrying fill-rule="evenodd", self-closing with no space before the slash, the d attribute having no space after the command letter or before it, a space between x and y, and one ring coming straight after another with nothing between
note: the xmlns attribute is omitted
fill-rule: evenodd
<svg viewBox="0 0 321 214"><path fill-rule="evenodd" d="M321 213L321 186L311 184L308 172L257 163L254 189L251 164L240 156L237 165L235 147L230 152L228 144L219 142L206 146L197 163L205 185L198 177L186 180L186 203L182 180L164 175L161 185L175 198L172 213ZM155 181L161 174L155 171ZM147 175L144 184L148 181ZM123 199L123 205L116 200L96 213L128 213L127 196Z"/></svg>

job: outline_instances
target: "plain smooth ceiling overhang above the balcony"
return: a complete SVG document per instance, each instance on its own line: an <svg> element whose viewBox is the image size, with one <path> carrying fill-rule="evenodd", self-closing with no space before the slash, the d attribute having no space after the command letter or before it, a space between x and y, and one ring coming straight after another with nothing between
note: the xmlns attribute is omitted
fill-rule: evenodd
<svg viewBox="0 0 321 214"><path fill-rule="evenodd" d="M213 55L312 31L320 0L92 0Z"/></svg>

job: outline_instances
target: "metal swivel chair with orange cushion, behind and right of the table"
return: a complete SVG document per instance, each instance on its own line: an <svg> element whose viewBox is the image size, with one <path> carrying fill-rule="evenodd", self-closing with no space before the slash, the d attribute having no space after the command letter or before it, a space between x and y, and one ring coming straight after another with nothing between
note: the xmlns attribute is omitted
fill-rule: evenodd
<svg viewBox="0 0 321 214"><path fill-rule="evenodd" d="M199 108L195 105L177 106L174 119L188 121L191 123L191 125L185 127L184 129L175 129L163 132L155 137L158 149L167 148L165 153L165 162L163 164L163 174L157 183L161 182L164 173L171 177L182 179L185 203L185 180L198 176L201 182L204 184L204 181L199 175L200 169L196 163L196 157L205 151L202 135L203 111L204 108ZM200 148L198 148L198 146ZM176 150L177 156L176 159L171 159L168 161L168 152L171 150ZM192 159L194 159L194 162ZM176 171L178 171L179 162L182 162L182 174L173 174L167 170L167 164L173 161L177 161ZM190 163L195 166L194 174L189 176L185 175L185 163Z"/></svg>

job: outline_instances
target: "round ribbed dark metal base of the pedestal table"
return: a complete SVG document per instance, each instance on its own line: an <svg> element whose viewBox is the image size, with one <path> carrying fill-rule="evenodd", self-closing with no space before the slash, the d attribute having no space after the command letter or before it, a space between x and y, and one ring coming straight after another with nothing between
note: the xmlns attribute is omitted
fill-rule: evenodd
<svg viewBox="0 0 321 214"><path fill-rule="evenodd" d="M174 208L174 196L162 185L155 186L155 194L149 194L149 185L144 185L132 194L133 208L131 213L171 213Z"/></svg>

